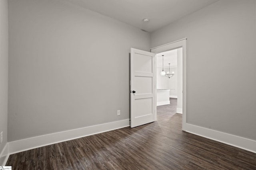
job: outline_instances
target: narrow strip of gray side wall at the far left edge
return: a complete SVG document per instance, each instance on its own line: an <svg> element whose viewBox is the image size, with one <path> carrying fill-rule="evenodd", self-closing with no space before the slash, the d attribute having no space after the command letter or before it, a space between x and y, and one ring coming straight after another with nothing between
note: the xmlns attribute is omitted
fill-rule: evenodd
<svg viewBox="0 0 256 170"><path fill-rule="evenodd" d="M8 108L8 3L0 0L0 133L3 142L0 153L7 143L7 108ZM1 162L1 160L0 160Z"/></svg>

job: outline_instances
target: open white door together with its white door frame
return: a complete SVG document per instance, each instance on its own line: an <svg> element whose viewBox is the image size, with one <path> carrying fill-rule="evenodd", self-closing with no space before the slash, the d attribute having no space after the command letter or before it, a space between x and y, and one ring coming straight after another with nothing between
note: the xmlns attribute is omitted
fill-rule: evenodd
<svg viewBox="0 0 256 170"><path fill-rule="evenodd" d="M131 48L130 55L130 127L157 120L156 54L173 49L182 51L182 130L186 131L186 39L150 49ZM148 107L145 107L148 106Z"/></svg>

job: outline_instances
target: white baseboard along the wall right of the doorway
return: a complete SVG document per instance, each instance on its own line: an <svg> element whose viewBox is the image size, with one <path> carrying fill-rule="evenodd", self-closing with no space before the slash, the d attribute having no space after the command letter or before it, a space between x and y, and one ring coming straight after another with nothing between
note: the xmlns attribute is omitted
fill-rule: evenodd
<svg viewBox="0 0 256 170"><path fill-rule="evenodd" d="M256 141L186 123L186 132L256 153Z"/></svg>

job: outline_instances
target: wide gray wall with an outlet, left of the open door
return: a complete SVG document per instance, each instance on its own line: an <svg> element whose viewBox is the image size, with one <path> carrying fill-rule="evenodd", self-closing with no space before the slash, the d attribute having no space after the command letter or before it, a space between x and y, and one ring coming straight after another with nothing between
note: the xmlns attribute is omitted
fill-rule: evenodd
<svg viewBox="0 0 256 170"><path fill-rule="evenodd" d="M63 0L8 2L8 141L129 119L129 52L149 33Z"/></svg>

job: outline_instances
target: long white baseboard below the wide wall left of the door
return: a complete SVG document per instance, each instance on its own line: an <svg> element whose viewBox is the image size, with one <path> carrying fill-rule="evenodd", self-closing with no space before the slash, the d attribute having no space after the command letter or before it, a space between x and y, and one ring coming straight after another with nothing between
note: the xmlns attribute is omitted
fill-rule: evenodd
<svg viewBox="0 0 256 170"><path fill-rule="evenodd" d="M52 134L42 135L38 137L22 139L18 141L12 141L12 142L9 142L9 154L23 152L30 149L44 147L47 145L69 141L72 139L78 139L81 137L95 135L98 133L112 131L115 129L120 129L128 126L130 126L130 119L125 119L125 120L114 121L110 123L104 123L100 125L94 125L94 126L83 127L79 129L73 129L69 131L62 131L58 133L52 133Z"/></svg>

